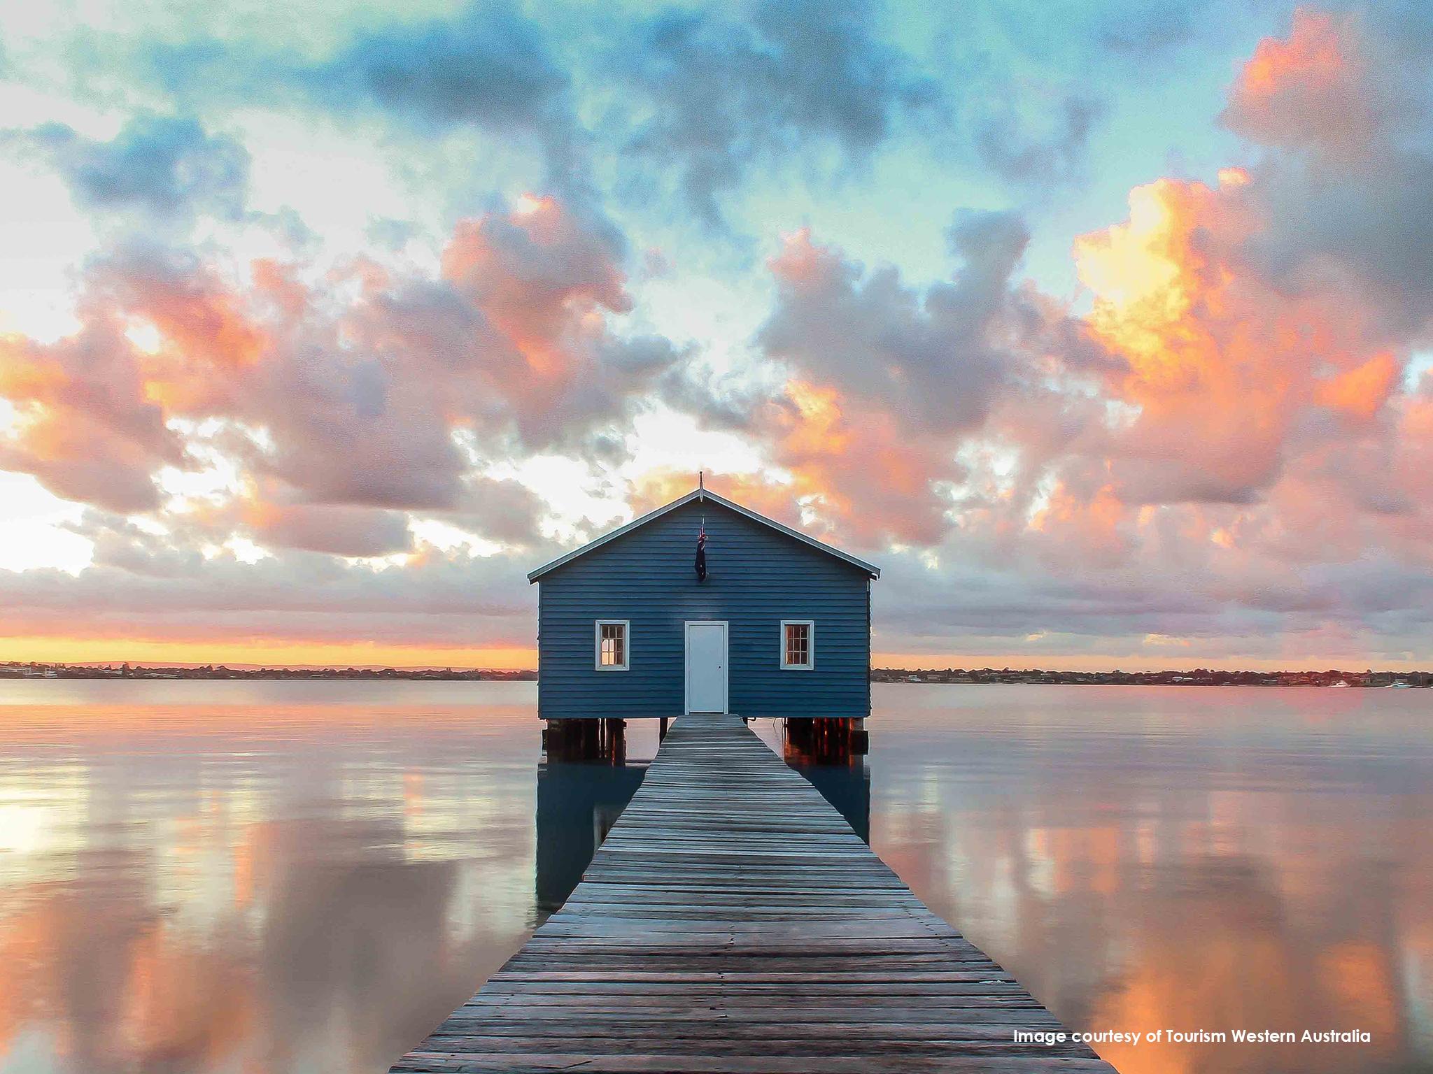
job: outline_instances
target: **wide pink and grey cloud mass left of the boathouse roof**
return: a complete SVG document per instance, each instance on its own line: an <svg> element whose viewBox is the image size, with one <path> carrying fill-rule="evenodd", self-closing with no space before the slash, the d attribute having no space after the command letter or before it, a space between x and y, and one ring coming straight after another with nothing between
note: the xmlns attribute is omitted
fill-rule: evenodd
<svg viewBox="0 0 1433 1074"><path fill-rule="evenodd" d="M228 527L391 554L413 516L533 544L545 507L489 468L620 461L633 417L689 392L685 351L613 331L622 258L605 222L550 198L460 221L437 275L259 259L234 279L129 241L86 268L79 332L4 341L19 421L0 461L70 500L156 511L165 467L218 460L234 477L202 508L215 543Z"/></svg>

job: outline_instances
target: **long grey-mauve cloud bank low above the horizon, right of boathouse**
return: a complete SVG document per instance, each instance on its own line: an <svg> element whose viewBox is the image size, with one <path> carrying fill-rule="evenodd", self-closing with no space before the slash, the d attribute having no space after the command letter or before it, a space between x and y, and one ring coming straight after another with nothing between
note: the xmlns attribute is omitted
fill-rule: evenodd
<svg viewBox="0 0 1433 1074"><path fill-rule="evenodd" d="M1135 557L1058 571L1023 554L1000 563L984 537L969 533L949 538L939 554L934 569L914 553L881 554L873 591L880 649L930 653L941 666L963 663L960 653L992 650L1027 654L1032 663L1050 652L1164 662L1237 653L1248 660L1287 654L1307 637L1310 649L1290 659L1303 663L1334 627L1357 639L1351 643L1361 653L1430 652L1433 583L1426 570L1386 554L1297 570L1260 563L1221 573ZM1048 643L1043 634L1052 636ZM1149 634L1187 644L1151 646Z"/></svg>

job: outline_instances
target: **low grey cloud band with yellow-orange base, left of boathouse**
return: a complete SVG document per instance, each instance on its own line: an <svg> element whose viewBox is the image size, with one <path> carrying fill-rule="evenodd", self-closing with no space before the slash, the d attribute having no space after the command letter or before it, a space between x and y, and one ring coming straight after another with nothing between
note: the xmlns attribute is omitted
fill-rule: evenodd
<svg viewBox="0 0 1433 1074"><path fill-rule="evenodd" d="M106 527L96 518L89 533ZM107 637L118 649L129 639L527 647L535 594L524 571L556 554L545 546L473 557L423 544L388 569L302 550L254 563L225 550L175 557L193 538L182 528L158 544L116 533L76 577L0 570L0 636Z"/></svg>

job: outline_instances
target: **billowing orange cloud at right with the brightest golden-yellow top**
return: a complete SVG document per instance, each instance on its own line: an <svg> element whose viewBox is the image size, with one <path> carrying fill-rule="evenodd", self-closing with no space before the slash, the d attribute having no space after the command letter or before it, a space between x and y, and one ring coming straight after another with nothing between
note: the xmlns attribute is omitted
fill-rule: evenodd
<svg viewBox="0 0 1433 1074"><path fill-rule="evenodd" d="M1109 438L1123 495L1247 500L1310 448L1307 408L1369 421L1384 407L1401 361L1374 315L1323 286L1280 289L1248 261L1265 222L1242 173L1161 179L1129 206L1075 242L1089 328L1126 362L1106 378L1134 408Z"/></svg>

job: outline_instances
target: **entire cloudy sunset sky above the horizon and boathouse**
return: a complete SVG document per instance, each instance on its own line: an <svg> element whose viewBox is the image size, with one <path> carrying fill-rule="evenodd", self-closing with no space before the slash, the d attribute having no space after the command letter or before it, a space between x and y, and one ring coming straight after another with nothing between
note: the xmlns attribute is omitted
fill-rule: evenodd
<svg viewBox="0 0 1433 1074"><path fill-rule="evenodd" d="M1430 72L1399 0L0 7L0 659L532 666L701 468L877 663L1430 666Z"/></svg>

